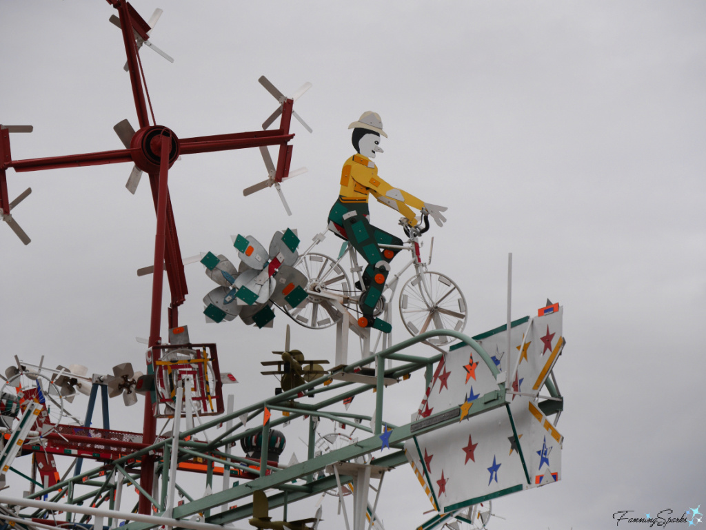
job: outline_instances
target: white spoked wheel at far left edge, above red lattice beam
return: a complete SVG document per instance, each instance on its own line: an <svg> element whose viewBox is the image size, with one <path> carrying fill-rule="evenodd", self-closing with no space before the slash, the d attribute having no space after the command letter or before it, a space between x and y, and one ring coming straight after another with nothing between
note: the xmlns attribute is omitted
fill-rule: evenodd
<svg viewBox="0 0 706 530"><path fill-rule="evenodd" d="M24 413L30 401L41 403L42 411L37 416L37 423L31 430L40 435L28 436L26 444L37 442L43 435L53 432L64 418L64 398L59 387L54 385L46 375L27 371L7 371L7 383L0 388L2 402L1 425L12 429L14 420Z"/></svg>

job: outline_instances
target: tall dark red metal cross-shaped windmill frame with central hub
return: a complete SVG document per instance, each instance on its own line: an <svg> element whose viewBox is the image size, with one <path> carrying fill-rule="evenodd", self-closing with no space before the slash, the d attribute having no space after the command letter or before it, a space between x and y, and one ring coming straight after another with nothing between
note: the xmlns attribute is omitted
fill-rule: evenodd
<svg viewBox="0 0 706 530"><path fill-rule="evenodd" d="M157 213L157 229L155 234L155 260L154 274L152 277L152 310L150 316L149 347L152 350L152 359L158 359L162 338L160 337L161 311L162 311L162 279L163 271L167 272L169 290L172 301L167 310L169 327L179 325L178 308L184 303L188 289L184 277L184 264L181 261L179 250L179 237L174 223L174 212L167 176L171 164L169 160L176 159L176 149L184 155L198 152L213 152L222 150L245 149L250 147L263 147L279 145L280 153L277 158L275 181L281 182L289 174L289 163L292 159L292 146L288 145L294 134L289 133L289 124L292 119L293 101L286 100L282 104L282 119L280 128L273 131L251 131L246 133L232 133L221 135L201 136L179 140L168 128L152 124L150 126L150 112L145 99L146 88L140 78L140 64L135 42L134 32L143 40L148 40L150 29L145 20L138 15L135 9L125 0L107 0L108 4L116 8L119 14L123 42L127 56L128 73L133 91L133 100L138 117L139 130L136 132L129 149L110 150L102 152L83 153L78 155L65 155L37 159L12 160L9 135L6 129L0 130L0 207L6 210L9 206L5 170L12 167L17 172L41 171L44 169L57 169L63 167L83 167L100 164L116 164L133 162L150 176L152 198ZM150 131L160 130L157 141L150 145L142 145L139 139ZM150 153L147 151L151 150ZM150 162L159 153L159 164ZM164 267L162 264L164 263ZM220 381L218 382L220 383ZM148 395L149 396L149 395ZM143 425L143 442L151 444L155 440L156 419L154 405L150 397L145 399L145 418ZM155 456L148 455L143 459L140 485L146 490L152 490ZM149 514L151 505L147 498L140 495L139 512Z"/></svg>

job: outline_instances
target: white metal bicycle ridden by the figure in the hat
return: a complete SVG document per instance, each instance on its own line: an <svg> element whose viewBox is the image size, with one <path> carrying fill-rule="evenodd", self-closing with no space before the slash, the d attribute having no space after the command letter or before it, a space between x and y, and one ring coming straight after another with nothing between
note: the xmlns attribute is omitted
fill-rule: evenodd
<svg viewBox="0 0 706 530"><path fill-rule="evenodd" d="M400 289L400 317L405 329L414 337L425 331L455 330L462 331L467 322L467 304L460 288L450 277L427 269L431 263L433 239L426 261L421 259L421 235L429 231L429 217L422 217L423 226L410 227L402 224L407 241L402 245L380 245L381 249L390 248L395 251L409 251L411 257L402 268L388 277L383 296L376 308L376 316L381 315L383 320L391 322L392 312L390 305L395 298L395 291L400 277L409 269L414 268L414 275L402 284ZM304 273L307 278L306 292L309 294L306 301L299 307L286 311L294 322L309 329L322 329L330 327L343 318L341 306L349 313L358 313L359 300L363 291L362 272L364 267L358 263L358 256L352 245L345 241L336 258L330 258L323 253L314 252L313 249L325 239L326 232L317 234L313 243L299 256L294 265L297 270ZM348 272L355 282L351 282ZM380 334L389 335L389 334ZM377 351L381 337L377 337L375 347ZM451 342L450 337L430 339L429 343L441 346ZM390 337L382 337L382 347L387 347Z"/></svg>

